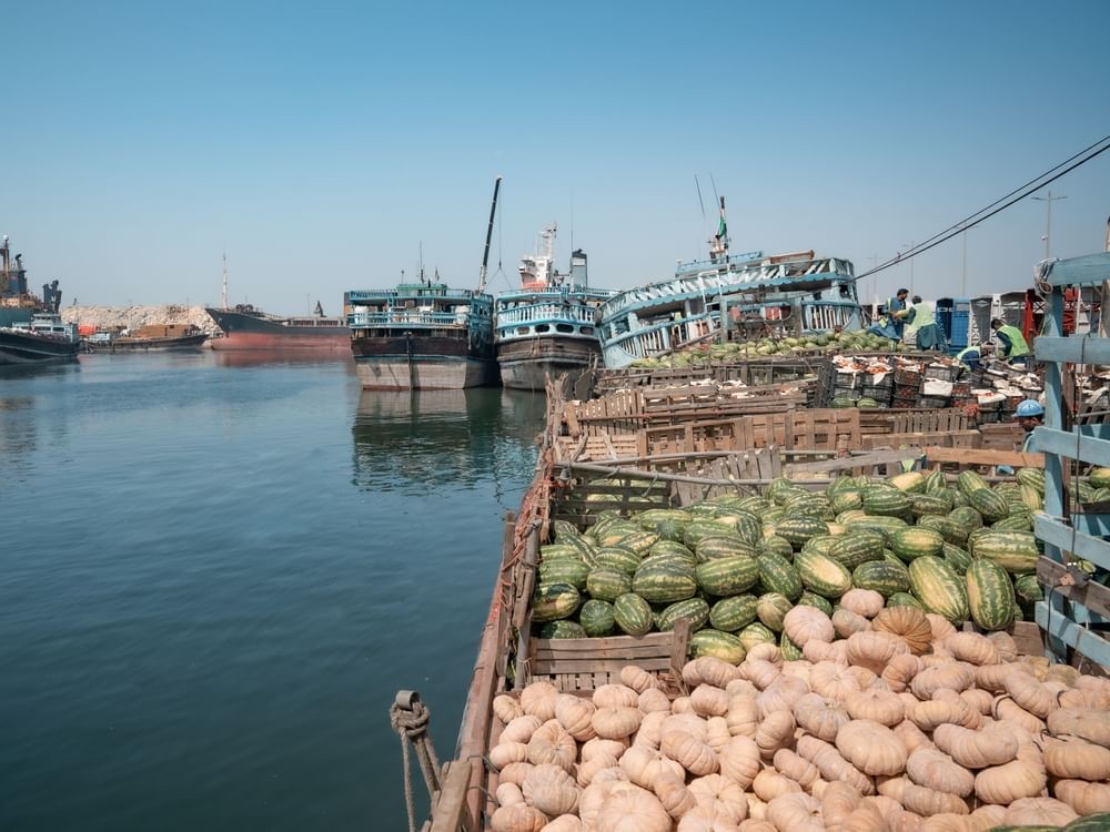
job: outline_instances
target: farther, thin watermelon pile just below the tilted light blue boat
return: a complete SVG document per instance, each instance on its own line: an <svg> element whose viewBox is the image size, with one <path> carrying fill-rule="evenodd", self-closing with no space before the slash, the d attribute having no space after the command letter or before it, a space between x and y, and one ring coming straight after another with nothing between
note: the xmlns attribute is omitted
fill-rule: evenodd
<svg viewBox="0 0 1110 832"><path fill-rule="evenodd" d="M840 333L811 333L799 337L773 338L757 341L730 341L726 344L695 344L666 355L649 358L637 358L633 367L646 369L665 369L680 367L698 367L722 362L748 361L774 356L790 356L814 352L901 352L901 342L890 341L881 335L862 331Z"/></svg>

